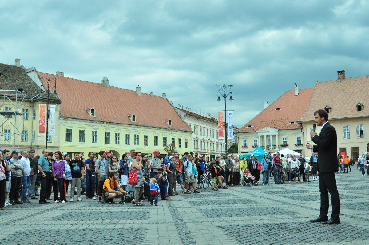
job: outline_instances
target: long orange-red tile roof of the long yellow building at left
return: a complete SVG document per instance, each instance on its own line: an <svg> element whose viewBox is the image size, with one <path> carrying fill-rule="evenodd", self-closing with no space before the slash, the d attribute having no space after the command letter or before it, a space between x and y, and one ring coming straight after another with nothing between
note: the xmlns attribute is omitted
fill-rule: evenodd
<svg viewBox="0 0 369 245"><path fill-rule="evenodd" d="M63 100L60 105L60 115L63 117L192 132L174 107L162 96L151 97L150 94L141 93L140 97L133 90L113 86L106 89L101 83L42 72L38 72L38 76L58 79L56 91ZM96 117L91 117L86 111L92 107ZM136 122L128 118L132 114L135 114ZM167 118L172 120L172 126L164 121Z"/></svg>

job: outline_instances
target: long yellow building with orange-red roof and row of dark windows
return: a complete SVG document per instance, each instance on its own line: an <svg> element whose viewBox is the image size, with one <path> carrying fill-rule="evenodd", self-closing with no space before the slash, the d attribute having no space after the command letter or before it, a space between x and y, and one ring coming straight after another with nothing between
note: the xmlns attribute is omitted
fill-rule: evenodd
<svg viewBox="0 0 369 245"><path fill-rule="evenodd" d="M118 158L131 149L144 154L163 151L172 144L180 155L192 149L192 130L176 113L166 94L86 82L69 77L38 72L38 77L53 76L58 80L60 106L60 150L97 153L112 150Z"/></svg>

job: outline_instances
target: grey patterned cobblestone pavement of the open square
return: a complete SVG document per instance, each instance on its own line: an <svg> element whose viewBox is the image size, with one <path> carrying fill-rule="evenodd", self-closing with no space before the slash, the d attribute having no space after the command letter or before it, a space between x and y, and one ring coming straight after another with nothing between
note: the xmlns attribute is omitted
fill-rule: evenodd
<svg viewBox="0 0 369 245"><path fill-rule="evenodd" d="M368 176L337 174L341 224L319 215L319 182L200 190L158 207L144 202L12 205L0 212L1 244L369 244Z"/></svg>

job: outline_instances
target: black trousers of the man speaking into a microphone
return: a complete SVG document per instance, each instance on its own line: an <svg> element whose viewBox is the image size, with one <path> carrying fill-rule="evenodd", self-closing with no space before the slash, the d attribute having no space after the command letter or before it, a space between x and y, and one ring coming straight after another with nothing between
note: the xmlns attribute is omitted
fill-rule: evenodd
<svg viewBox="0 0 369 245"><path fill-rule="evenodd" d="M320 191L320 217L327 217L329 200L328 191L331 194L332 200L332 215L333 220L339 220L341 213L341 203L337 190L336 178L334 172L319 173L319 191Z"/></svg>

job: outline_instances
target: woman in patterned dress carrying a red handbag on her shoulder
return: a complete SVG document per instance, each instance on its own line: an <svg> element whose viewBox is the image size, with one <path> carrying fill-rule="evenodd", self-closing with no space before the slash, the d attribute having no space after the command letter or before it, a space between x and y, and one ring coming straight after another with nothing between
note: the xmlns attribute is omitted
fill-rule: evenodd
<svg viewBox="0 0 369 245"><path fill-rule="evenodd" d="M141 158L141 152L135 153L135 159L132 161L132 168L130 172L130 176L128 177L128 183L127 184L133 184L135 187L135 199L132 200L132 203L135 204L135 206L144 206L144 204L139 202L139 197L144 192L144 183L142 182L142 158Z"/></svg>

